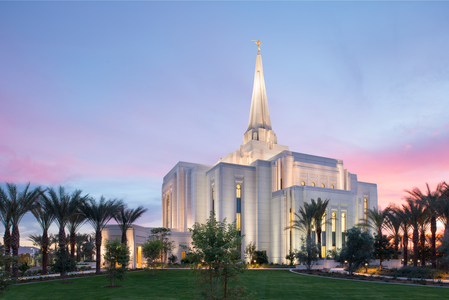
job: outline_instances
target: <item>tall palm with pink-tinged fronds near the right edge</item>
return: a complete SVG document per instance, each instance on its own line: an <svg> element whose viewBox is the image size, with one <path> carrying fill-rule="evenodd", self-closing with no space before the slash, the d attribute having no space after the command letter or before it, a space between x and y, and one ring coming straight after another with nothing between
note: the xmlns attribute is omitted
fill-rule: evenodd
<svg viewBox="0 0 449 300"><path fill-rule="evenodd" d="M426 183L427 191L426 194L421 192L418 188L413 188L413 190L405 192L410 195L410 198L415 199L419 203L425 206L426 210L430 214L430 231L432 233L432 243L431 243L431 251L432 251L432 268L437 267L436 262L436 232L437 232L437 216L438 216L438 204L441 198L441 194L443 191L444 183L440 183L437 185L435 191L431 191L429 184ZM421 239L422 240L422 239ZM424 256L423 256L424 257Z"/></svg>

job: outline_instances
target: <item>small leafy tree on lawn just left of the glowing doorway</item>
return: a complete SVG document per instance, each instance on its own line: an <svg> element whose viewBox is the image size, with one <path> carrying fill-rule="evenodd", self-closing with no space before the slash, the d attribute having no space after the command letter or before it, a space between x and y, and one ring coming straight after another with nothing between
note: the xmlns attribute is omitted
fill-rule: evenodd
<svg viewBox="0 0 449 300"><path fill-rule="evenodd" d="M110 287L117 287L115 284L117 280L124 280L127 266L130 260L129 248L120 243L118 239L106 241L106 253L104 257L104 265L106 266L106 278L110 280Z"/></svg>

